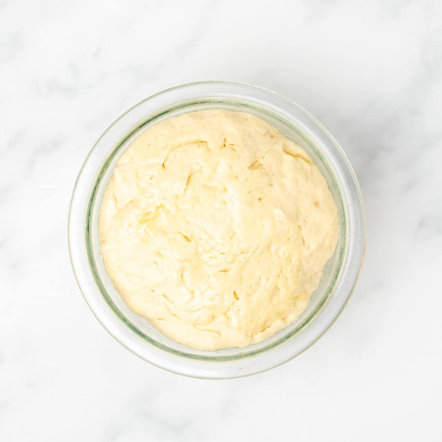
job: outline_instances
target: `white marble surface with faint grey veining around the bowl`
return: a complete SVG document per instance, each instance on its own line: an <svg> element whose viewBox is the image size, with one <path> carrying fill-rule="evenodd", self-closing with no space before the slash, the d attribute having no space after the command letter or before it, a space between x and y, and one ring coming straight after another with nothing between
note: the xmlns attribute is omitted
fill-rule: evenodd
<svg viewBox="0 0 442 442"><path fill-rule="evenodd" d="M0 440L440 440L442 7L434 1L0 1ZM356 292L306 353L228 381L157 369L90 313L73 183L102 131L169 86L297 101L366 204Z"/></svg>

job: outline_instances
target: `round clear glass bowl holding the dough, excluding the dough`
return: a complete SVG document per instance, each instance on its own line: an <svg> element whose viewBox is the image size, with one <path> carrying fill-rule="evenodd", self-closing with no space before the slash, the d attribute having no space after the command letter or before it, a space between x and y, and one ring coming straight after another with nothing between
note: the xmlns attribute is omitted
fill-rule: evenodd
<svg viewBox="0 0 442 442"><path fill-rule="evenodd" d="M132 140L178 114L223 108L267 120L300 144L327 180L339 213L339 239L303 314L285 329L246 348L199 351L163 336L123 303L99 253L98 211L116 162ZM233 378L268 370L302 353L339 316L362 266L365 220L353 169L336 140L296 103L269 90L201 82L164 90L132 107L107 128L87 156L73 190L69 251L83 296L106 330L128 350L163 369L200 378Z"/></svg>

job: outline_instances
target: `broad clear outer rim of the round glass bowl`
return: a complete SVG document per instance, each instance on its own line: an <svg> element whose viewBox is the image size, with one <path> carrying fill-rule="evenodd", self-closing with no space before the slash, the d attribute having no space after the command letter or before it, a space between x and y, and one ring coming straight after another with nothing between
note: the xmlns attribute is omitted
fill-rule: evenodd
<svg viewBox="0 0 442 442"><path fill-rule="evenodd" d="M173 361L173 360L170 360L169 356L166 358L168 360L165 360L161 357L161 354L153 355L153 354L150 354L150 353L152 353L150 351L144 351L144 350L140 351L139 343L137 343L133 337L132 337L132 339L127 339L127 336L124 336L125 332L121 329L122 324L113 323L112 316L109 316L108 312L107 312L107 314L104 314L103 308L102 308L103 305L100 305L101 304L100 302L96 302L96 300L94 300L93 297L90 295L90 290L91 290L90 281L87 282L87 280L90 279L90 278L88 278L88 277L90 277L90 275L87 275L88 270L87 270L87 266L85 265L86 263L81 262L82 261L81 256L83 255L83 257L84 257L84 253L80 252L80 249L82 249L82 247L79 245L79 242L78 242L78 240L80 239L79 232L82 229L83 229L83 232L85 232L85 233L87 231L87 223L85 222L86 218L81 216L81 214L83 212L85 212L85 213L87 212L87 207L90 206L90 201L91 201L90 195L93 194L93 189L90 188L90 186L87 189L87 181L88 181L87 178L89 178L89 180L90 180L90 172L93 172L95 174L95 176L93 178L93 186L94 186L94 184L97 182L98 174L102 170L103 164L104 164L104 162L103 162L103 164L99 167L98 170L96 170L94 168L93 168L93 170L90 169L89 163L90 163L91 158L94 156L94 153L96 153L97 146L99 146L100 143L103 142L106 135L109 134L109 132L112 131L113 128L115 128L118 124L120 124L125 118L130 116L131 113L133 111L135 111L135 109L139 109L143 104L151 102L155 98L164 97L165 95L171 95L175 91L183 91L186 89L189 90L189 89L192 89L195 87L201 87L201 86L202 87L213 86L213 87L218 87L218 88L219 87L220 88L227 87L227 89L229 89L229 87L233 87L233 88L241 89L243 91L243 93L246 93L246 95L247 95L247 93L252 93L252 91L255 91L255 92L260 93L264 96L267 96L267 98L269 100L273 99L273 100L278 100L279 102L284 102L285 104L288 104L289 106L292 107L293 112L297 111L297 112L303 114L307 120L310 120L310 122L313 125L315 125L316 128L319 129L319 131L322 132L322 135L325 136L327 141L330 142L331 144L333 144L333 147L336 150L335 153L337 153L339 155L339 160L341 161L340 166L346 169L345 172L348 175L347 178L350 179L350 183L354 187L353 188L353 191L355 194L354 196L357 197L356 201L352 200L352 202L356 202L356 205L353 204L353 209L356 209L356 218L358 220L358 223L360 224L359 230L358 230L359 238L357 238L358 244L359 244L359 263L358 263L358 265L353 266L354 268L352 269L352 278L351 278L353 280L353 282L351 284L351 287L348 287L346 290L346 293L340 297L340 300L339 300L340 302L334 303L334 309L333 309L333 311L330 312L331 315L327 315L328 319L326 320L326 322L323 324L323 326L319 327L320 328L319 330L316 330L316 333L314 333L314 337L312 337L312 339L309 339L306 344L301 345L294 352L293 351L283 352L284 354L279 355L279 357L275 358L274 361L269 359L269 357L271 358L270 353L274 353L274 352L270 351L270 350L272 350L272 348L270 348L268 352L260 352L257 355L246 355L245 357L266 358L267 359L266 363L256 364L256 366L253 366L249 370L243 370L243 367L241 367L241 361L244 361L244 358L240 358L240 359L233 360L233 361L231 361L231 360L214 361L214 360L197 359L197 360L194 360L192 362L192 364L189 364L189 363L186 364L186 363L183 363L183 360L186 360L186 357L185 357L185 356L187 356L186 354L185 355L173 355L172 357L174 357L175 359L179 358L179 356L183 356L183 358L179 358L179 360L177 359L176 361ZM190 92L191 91L189 90L189 93ZM235 100L233 99L233 101L235 101ZM178 105L178 104L180 104L179 101L175 103L175 105ZM269 103L267 103L267 104L269 104ZM159 113L160 111L161 111L160 108L157 109L157 113ZM147 117L148 117L148 115L145 116L145 119L147 119ZM141 122L142 122L142 120L139 120L135 125L134 125L134 123L132 123L131 125L134 128L137 124L141 124ZM125 133L120 133L120 136L119 136L120 139L125 138L127 136L127 134L131 130L133 130L133 128L130 129L129 131L126 130ZM114 135L114 138L115 138L115 135ZM111 152L116 150L116 147L118 144L121 145L121 142L114 143L114 145L112 145L112 146L109 146L109 145L107 146L108 156L111 155ZM101 154L100 154L100 156L102 158ZM97 155L97 157L98 157L98 155ZM89 175L86 176L85 175L86 172L88 172ZM85 187L85 185L86 185L86 187ZM80 194L80 190L81 190L81 194ZM88 191L88 194L89 194L89 196L86 199L84 199L85 191ZM81 223L83 224L82 227L79 226ZM362 269L362 264L363 264L363 258L364 258L364 252L365 252L365 235L366 235L365 213L364 213L364 206L363 206L362 195L361 195L361 191L359 188L359 184L357 182L353 168L348 161L348 158L346 157L345 153L343 152L342 148L337 143L335 138L333 136L331 136L331 134L328 133L328 131L325 129L325 127L318 120L316 120L315 117L311 116L307 111L305 111L304 108L302 108L297 103L294 103L293 101L287 99L286 97L284 97L280 94L277 94L273 91L270 91L268 89L259 87L259 86L254 86L254 85L247 84L247 83L230 82L230 81L202 81L202 82L187 83L187 84L174 86L174 87L165 89L163 91L160 91L160 92L140 101L139 103L135 104L130 109L128 109L126 112L124 112L122 115L120 115L111 125L109 125L106 128L106 130L99 137L99 139L96 141L93 148L90 150L89 154L87 155L87 157L82 165L82 168L80 169L79 175L78 175L76 183L75 183L75 187L72 192L72 198L71 198L70 207L69 207L69 219L68 219L68 246L69 246L69 255L70 255L70 261L71 261L73 273L75 274L75 278L76 278L77 284L83 294L83 298L85 299L86 303L88 304L89 308L91 309L91 311L93 312L93 314L97 318L97 320L103 325L103 327L108 331L108 333L114 337L114 339L116 339L119 343L121 343L124 347L126 347L132 353L139 356L141 359L144 359L154 365L157 365L159 367L162 367L163 369L169 370L174 373L178 373L178 374L182 374L182 375L186 375L186 376L191 376L191 377L200 377L200 378L233 378L233 377L242 377L242 376L248 376L248 375L255 374L255 373L260 373L260 372L269 370L272 367L279 366L282 363L287 362L288 360L303 353L307 348L309 348L311 345L313 345L315 342L317 342L317 340L321 336L323 336L323 334L337 320L337 318L341 314L342 310L345 308L345 305L348 303L348 300L351 297L351 295L355 289L355 286L358 282L359 275L360 275L360 272ZM86 240L86 236L87 236L87 233L84 236L85 240ZM81 243L81 241L80 241L80 243ZM86 249L87 249L86 241L85 241L84 246L86 246ZM358 259L358 256L353 256L353 258ZM91 270L92 269L89 268L89 272ZM100 291L100 288L98 286L96 286L95 289ZM100 291L100 294L102 294L101 291ZM330 296L332 294L333 293L331 293ZM314 318L311 319L311 321L314 320L317 316L322 314L322 312L324 311L324 309L327 307L327 305L329 303L328 299L326 301L327 302L323 302L323 304L325 304L325 305L320 306L321 308L319 309L319 311L316 312L316 315L314 315ZM116 312L114 312L114 313L116 314ZM116 315L114 317L114 322L121 320L121 317L117 319L117 316L118 315ZM308 321L306 321L306 323L302 327L300 327L300 330L297 331L297 333L295 333L294 335L297 335L298 333L302 333L303 329L305 327L309 326L311 321L310 321L310 319ZM117 325L120 325L120 326L117 326ZM127 325L124 325L124 326L126 327ZM127 331L133 332L134 330L129 330L127 328ZM291 338L289 337L289 339L291 339ZM149 345L148 342L145 342L145 344ZM282 346L282 345L286 345L286 344L288 344L288 343L285 342L285 340L284 340L279 345ZM150 345L152 345L152 344L150 344ZM159 351L161 352L161 349L159 349ZM203 364L206 366L203 367L201 365L200 367L198 367L198 366L195 366L195 363L197 365ZM216 366L213 365L214 363L216 364ZM209 367L209 366L207 366L207 364L212 364L212 366ZM236 366L227 366L229 364L236 365ZM225 366L221 366L221 365L225 365Z"/></svg>

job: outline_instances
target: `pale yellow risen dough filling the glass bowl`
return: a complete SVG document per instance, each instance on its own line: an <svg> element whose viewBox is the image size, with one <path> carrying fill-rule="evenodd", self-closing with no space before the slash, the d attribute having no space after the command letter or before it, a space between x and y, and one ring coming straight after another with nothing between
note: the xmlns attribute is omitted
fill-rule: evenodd
<svg viewBox="0 0 442 442"><path fill-rule="evenodd" d="M307 153L251 114L183 114L136 138L99 213L127 306L197 349L244 347L295 320L338 236Z"/></svg>

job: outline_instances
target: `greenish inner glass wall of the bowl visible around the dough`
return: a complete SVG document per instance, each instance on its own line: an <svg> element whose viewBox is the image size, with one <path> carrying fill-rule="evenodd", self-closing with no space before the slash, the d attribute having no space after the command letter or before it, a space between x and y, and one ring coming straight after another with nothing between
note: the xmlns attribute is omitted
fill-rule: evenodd
<svg viewBox="0 0 442 442"><path fill-rule="evenodd" d="M141 318L131 312L120 298L114 288L104 268L102 257L99 253L98 242L98 212L101 200L106 189L107 183L111 178L116 163L123 152L128 148L131 142L142 132L147 130L153 124L164 119L187 112L199 111L202 109L223 108L230 111L248 112L254 114L273 126L284 134L290 140L298 143L310 155L322 175L325 177L331 194L333 195L339 216L339 236L338 243L333 256L327 262L322 280L318 289L312 295L307 308L301 316L292 324L280 330L272 337L257 344L245 348L230 348L214 352L200 351L179 344L164 335L153 327L146 319ZM339 179L335 174L334 168L330 165L321 146L315 144L308 137L303 128L296 122L288 121L282 114L275 112L268 107L260 106L256 103L238 100L226 99L199 99L175 104L168 108L146 117L136 124L132 130L128 131L121 140L113 147L109 155L104 160L91 189L86 210L86 249L90 269L93 273L95 282L101 291L114 314L129 328L146 342L169 353L192 358L196 360L218 360L228 361L237 360L245 357L254 356L268 351L270 348L278 346L287 340L296 339L296 335L315 320L321 309L329 300L334 291L336 281L340 276L342 262L346 250L346 201L342 189L339 185Z"/></svg>

